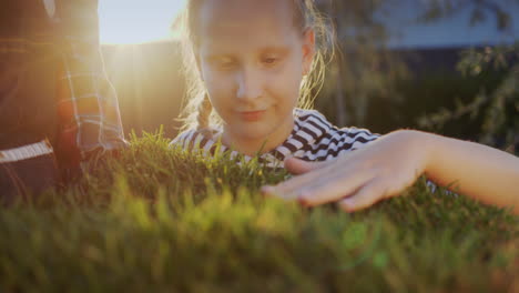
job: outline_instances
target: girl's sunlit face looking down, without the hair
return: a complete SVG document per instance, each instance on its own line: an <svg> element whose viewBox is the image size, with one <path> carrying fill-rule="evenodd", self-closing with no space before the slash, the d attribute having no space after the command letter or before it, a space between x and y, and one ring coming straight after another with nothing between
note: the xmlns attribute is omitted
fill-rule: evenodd
<svg viewBox="0 0 519 293"><path fill-rule="evenodd" d="M224 143L257 148L268 138L268 151L291 133L314 50L313 32L295 27L293 9L286 0L202 4L196 59L211 103L224 121Z"/></svg>

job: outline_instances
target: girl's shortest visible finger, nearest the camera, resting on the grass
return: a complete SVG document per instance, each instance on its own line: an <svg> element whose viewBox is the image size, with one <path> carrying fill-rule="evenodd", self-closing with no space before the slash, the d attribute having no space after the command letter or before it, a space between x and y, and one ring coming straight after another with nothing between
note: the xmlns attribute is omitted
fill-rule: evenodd
<svg viewBox="0 0 519 293"><path fill-rule="evenodd" d="M373 180L350 196L340 200L338 205L346 212L355 212L369 208L388 195L387 186L381 181Z"/></svg>

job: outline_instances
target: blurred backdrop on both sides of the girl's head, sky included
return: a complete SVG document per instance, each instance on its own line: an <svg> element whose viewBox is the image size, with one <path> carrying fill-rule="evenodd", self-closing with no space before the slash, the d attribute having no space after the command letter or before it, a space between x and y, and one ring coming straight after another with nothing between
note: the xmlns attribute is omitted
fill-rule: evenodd
<svg viewBox="0 0 519 293"><path fill-rule="evenodd" d="M519 0L316 0L337 53L315 108L337 125L413 128L519 150ZM184 0L100 0L125 132L174 138Z"/></svg>

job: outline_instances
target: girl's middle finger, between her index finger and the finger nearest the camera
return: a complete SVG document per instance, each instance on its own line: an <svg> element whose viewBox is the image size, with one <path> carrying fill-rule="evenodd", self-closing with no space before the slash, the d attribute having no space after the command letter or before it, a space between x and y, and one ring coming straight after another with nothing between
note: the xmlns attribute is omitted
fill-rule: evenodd
<svg viewBox="0 0 519 293"><path fill-rule="evenodd" d="M346 195L355 193L367 182L373 180L372 172L355 172L337 174L333 178L319 180L311 185L302 186L293 193L298 195L302 204L307 206L335 202Z"/></svg>

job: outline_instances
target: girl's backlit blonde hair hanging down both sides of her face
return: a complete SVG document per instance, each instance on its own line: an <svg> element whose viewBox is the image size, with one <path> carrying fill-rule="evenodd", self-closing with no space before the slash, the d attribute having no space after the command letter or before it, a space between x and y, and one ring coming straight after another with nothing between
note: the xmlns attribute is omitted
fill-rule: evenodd
<svg viewBox="0 0 519 293"><path fill-rule="evenodd" d="M200 46L197 32L197 17L202 3L206 0L187 0L186 8L176 26L182 26L183 30L183 61L187 81L187 102L182 111L184 121L181 130L196 129L211 135L212 125L220 125L221 119L217 117L203 81L196 67L195 55ZM314 105L315 97L323 88L325 68L332 60L335 48L335 30L327 17L318 12L314 0L286 0L294 4L295 27L304 33L312 29L315 33L315 54L308 73L303 77L297 107L311 109Z"/></svg>

